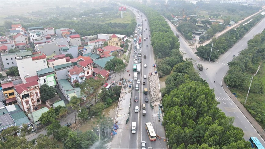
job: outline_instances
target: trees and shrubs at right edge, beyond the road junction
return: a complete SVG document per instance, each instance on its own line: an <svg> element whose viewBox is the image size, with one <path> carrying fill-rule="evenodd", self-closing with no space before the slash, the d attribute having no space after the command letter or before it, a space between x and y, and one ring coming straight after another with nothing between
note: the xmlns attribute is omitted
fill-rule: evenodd
<svg viewBox="0 0 265 149"><path fill-rule="evenodd" d="M265 30L261 34L256 35L254 38L248 41L248 48L240 52L239 56L236 56L231 62L229 62L229 70L227 76L224 78L227 86L230 88L236 88L242 92L247 92L249 89L249 78L255 74L258 65L260 70L256 76L254 76L250 93L260 94L264 97L264 59L265 59ZM261 76L261 77L260 77ZM259 96L259 95L257 95ZM245 96L244 96L245 97ZM257 107L256 104L264 105L264 98L261 101L248 102L247 105L243 104L249 113L255 118L261 126L264 127L265 117L264 110ZM262 103L263 102L263 103Z"/></svg>

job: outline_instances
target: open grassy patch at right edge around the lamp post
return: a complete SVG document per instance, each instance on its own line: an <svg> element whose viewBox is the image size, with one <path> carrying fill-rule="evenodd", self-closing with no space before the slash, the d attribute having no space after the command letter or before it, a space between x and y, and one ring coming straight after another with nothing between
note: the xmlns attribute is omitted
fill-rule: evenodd
<svg viewBox="0 0 265 149"><path fill-rule="evenodd" d="M245 99L247 96L247 91L243 91L240 89L234 89L231 88L232 93L237 93L237 99L241 102L241 104L244 105L244 107L249 111L249 113L256 119L256 121L260 124L262 128L265 127L265 65L264 62L260 66L259 72L253 77L253 82L262 82L263 86L263 94L257 94L257 93L251 93L251 87L250 87L250 93L247 99L246 104Z"/></svg>

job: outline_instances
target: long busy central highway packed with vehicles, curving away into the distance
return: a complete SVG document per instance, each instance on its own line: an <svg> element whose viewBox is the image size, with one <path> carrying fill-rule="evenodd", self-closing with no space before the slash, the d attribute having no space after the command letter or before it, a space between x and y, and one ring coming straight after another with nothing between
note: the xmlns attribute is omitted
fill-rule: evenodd
<svg viewBox="0 0 265 149"><path fill-rule="evenodd" d="M127 7L128 9L128 7ZM133 71L132 71L132 66L133 64L135 64L133 62L133 55L134 54L134 46L132 43L132 51L131 54L129 56L129 64L128 64L128 68L130 71L130 79L133 80L133 91L132 91L132 96L131 96L131 108L130 108L130 117L129 117L129 130L128 132L126 132L126 134L124 134L125 132L123 132L125 138L124 142L122 142L122 144L120 144L120 148L141 148L141 142L142 141L146 141L146 148L147 147L152 147L157 148L157 149L166 149L166 142L164 140L159 140L157 139L156 141L150 141L149 140L149 136L147 135L147 131L145 129L145 124L147 122L152 122L152 125L154 127L154 130L156 132L159 132L159 134L165 136L165 132L163 129L163 126L161 125L161 122L158 122L154 117L156 117L156 113L154 113L154 110L150 107L150 98L149 98L149 90L148 90L148 94L145 95L143 93L144 88L148 88L149 89L149 81L148 81L148 77L149 77L149 73L153 72L154 73L154 67L152 67L153 64L155 64L155 60L154 60L154 52L151 46L151 40L149 37L149 35L151 35L150 31L149 31L149 25L148 25L148 20L144 20L145 18L147 19L147 17L140 13L137 12L137 10L135 9L131 9L132 12L135 14L136 16L136 22L138 23L142 23L142 28L143 30L147 28L146 31L142 30L142 48L140 48L140 50L138 51L140 53L141 51L141 73L137 75L137 78L140 79L140 86L139 86L139 90L135 90L135 85L136 80L133 80L134 76L133 76ZM141 16L143 15L143 17ZM137 17L139 16L139 19L137 19ZM139 31L137 30L137 32L139 33ZM137 33L137 34L138 34ZM140 35L140 34L139 34ZM146 38L146 41L143 40L143 38ZM148 46L147 46L148 45ZM146 58L143 58L143 54L146 54ZM138 55L138 53L137 53ZM138 60L138 56L137 56L137 60ZM143 67L144 64L147 64L147 67ZM147 78L144 79L143 75L147 75ZM143 85L143 80L146 82L145 85ZM138 102L134 102L134 97L137 96L139 101ZM146 103L144 101L144 98L147 97L148 98L148 103ZM146 109L144 109L146 111L146 116L142 115L142 104L146 104ZM140 111L139 113L135 113L135 106L138 106ZM136 133L131 133L131 125L132 122L136 122ZM162 129L162 130L161 130ZM162 134L163 133L163 134Z"/></svg>

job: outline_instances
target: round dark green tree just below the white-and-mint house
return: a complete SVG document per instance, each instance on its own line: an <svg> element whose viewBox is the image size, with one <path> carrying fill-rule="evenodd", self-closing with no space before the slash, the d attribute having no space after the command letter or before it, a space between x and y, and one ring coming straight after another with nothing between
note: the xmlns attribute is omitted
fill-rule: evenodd
<svg viewBox="0 0 265 149"><path fill-rule="evenodd" d="M55 96L56 89L52 86L48 86L47 84L43 84L40 88L40 93L42 103L45 103L46 100L51 99Z"/></svg>

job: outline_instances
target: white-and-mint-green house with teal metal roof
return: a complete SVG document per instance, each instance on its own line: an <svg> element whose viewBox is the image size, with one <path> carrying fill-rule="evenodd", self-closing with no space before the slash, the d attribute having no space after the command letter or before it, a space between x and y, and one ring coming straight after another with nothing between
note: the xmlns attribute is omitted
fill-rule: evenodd
<svg viewBox="0 0 265 149"><path fill-rule="evenodd" d="M37 70L40 86L47 84L48 86L55 86L54 70L52 67Z"/></svg>

